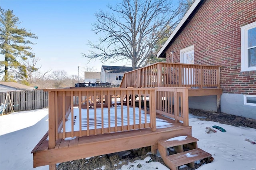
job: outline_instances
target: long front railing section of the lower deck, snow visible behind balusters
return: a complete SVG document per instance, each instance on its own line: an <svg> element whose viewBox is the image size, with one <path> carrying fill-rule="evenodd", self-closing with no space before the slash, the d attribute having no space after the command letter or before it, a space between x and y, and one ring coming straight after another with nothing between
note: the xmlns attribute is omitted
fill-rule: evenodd
<svg viewBox="0 0 256 170"><path fill-rule="evenodd" d="M142 128L151 128L155 131L155 90L155 88L44 89L49 92L49 148L54 148L59 138ZM74 107L74 98L78 99L78 109ZM114 112L110 112L110 108Z"/></svg>

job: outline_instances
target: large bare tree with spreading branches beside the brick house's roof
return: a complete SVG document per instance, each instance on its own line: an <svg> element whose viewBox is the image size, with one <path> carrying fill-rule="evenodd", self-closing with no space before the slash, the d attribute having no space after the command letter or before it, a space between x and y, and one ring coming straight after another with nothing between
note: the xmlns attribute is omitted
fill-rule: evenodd
<svg viewBox="0 0 256 170"><path fill-rule="evenodd" d="M82 53L90 61L126 59L133 69L147 65L154 46L168 37L179 21L180 8L174 8L170 0L123 0L108 8L111 12L95 14L93 30L103 36L98 44L89 42L95 51Z"/></svg>

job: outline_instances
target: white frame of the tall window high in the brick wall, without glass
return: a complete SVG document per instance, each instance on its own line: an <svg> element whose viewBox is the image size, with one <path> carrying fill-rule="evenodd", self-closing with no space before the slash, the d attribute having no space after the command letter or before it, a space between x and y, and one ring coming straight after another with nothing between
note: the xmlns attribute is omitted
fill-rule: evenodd
<svg viewBox="0 0 256 170"><path fill-rule="evenodd" d="M241 27L241 71L256 70L248 66L248 30L256 28L256 22Z"/></svg>

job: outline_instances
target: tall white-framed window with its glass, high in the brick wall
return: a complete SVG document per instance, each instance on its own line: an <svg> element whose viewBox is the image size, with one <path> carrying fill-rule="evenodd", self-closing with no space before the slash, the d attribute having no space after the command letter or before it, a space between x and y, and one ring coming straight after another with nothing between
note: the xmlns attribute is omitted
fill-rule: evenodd
<svg viewBox="0 0 256 170"><path fill-rule="evenodd" d="M241 71L256 70L256 22L241 27Z"/></svg>

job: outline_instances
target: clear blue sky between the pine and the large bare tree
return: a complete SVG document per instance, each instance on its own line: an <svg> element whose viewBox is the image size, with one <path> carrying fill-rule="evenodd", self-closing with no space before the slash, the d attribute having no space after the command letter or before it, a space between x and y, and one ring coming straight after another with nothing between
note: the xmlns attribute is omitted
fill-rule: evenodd
<svg viewBox="0 0 256 170"><path fill-rule="evenodd" d="M51 69L65 70L68 75L80 76L83 67L100 71L101 65L126 65L124 63L101 63L88 59L81 53L88 53L88 41L98 41L92 31L92 23L96 22L95 12L107 10L108 4L115 5L120 0L0 0L4 10L13 10L21 24L18 28L26 28L38 36L32 42L33 53L40 58L40 72ZM2 56L1 56L2 60ZM130 65L127 65L130 66ZM96 71L96 70L94 70Z"/></svg>

